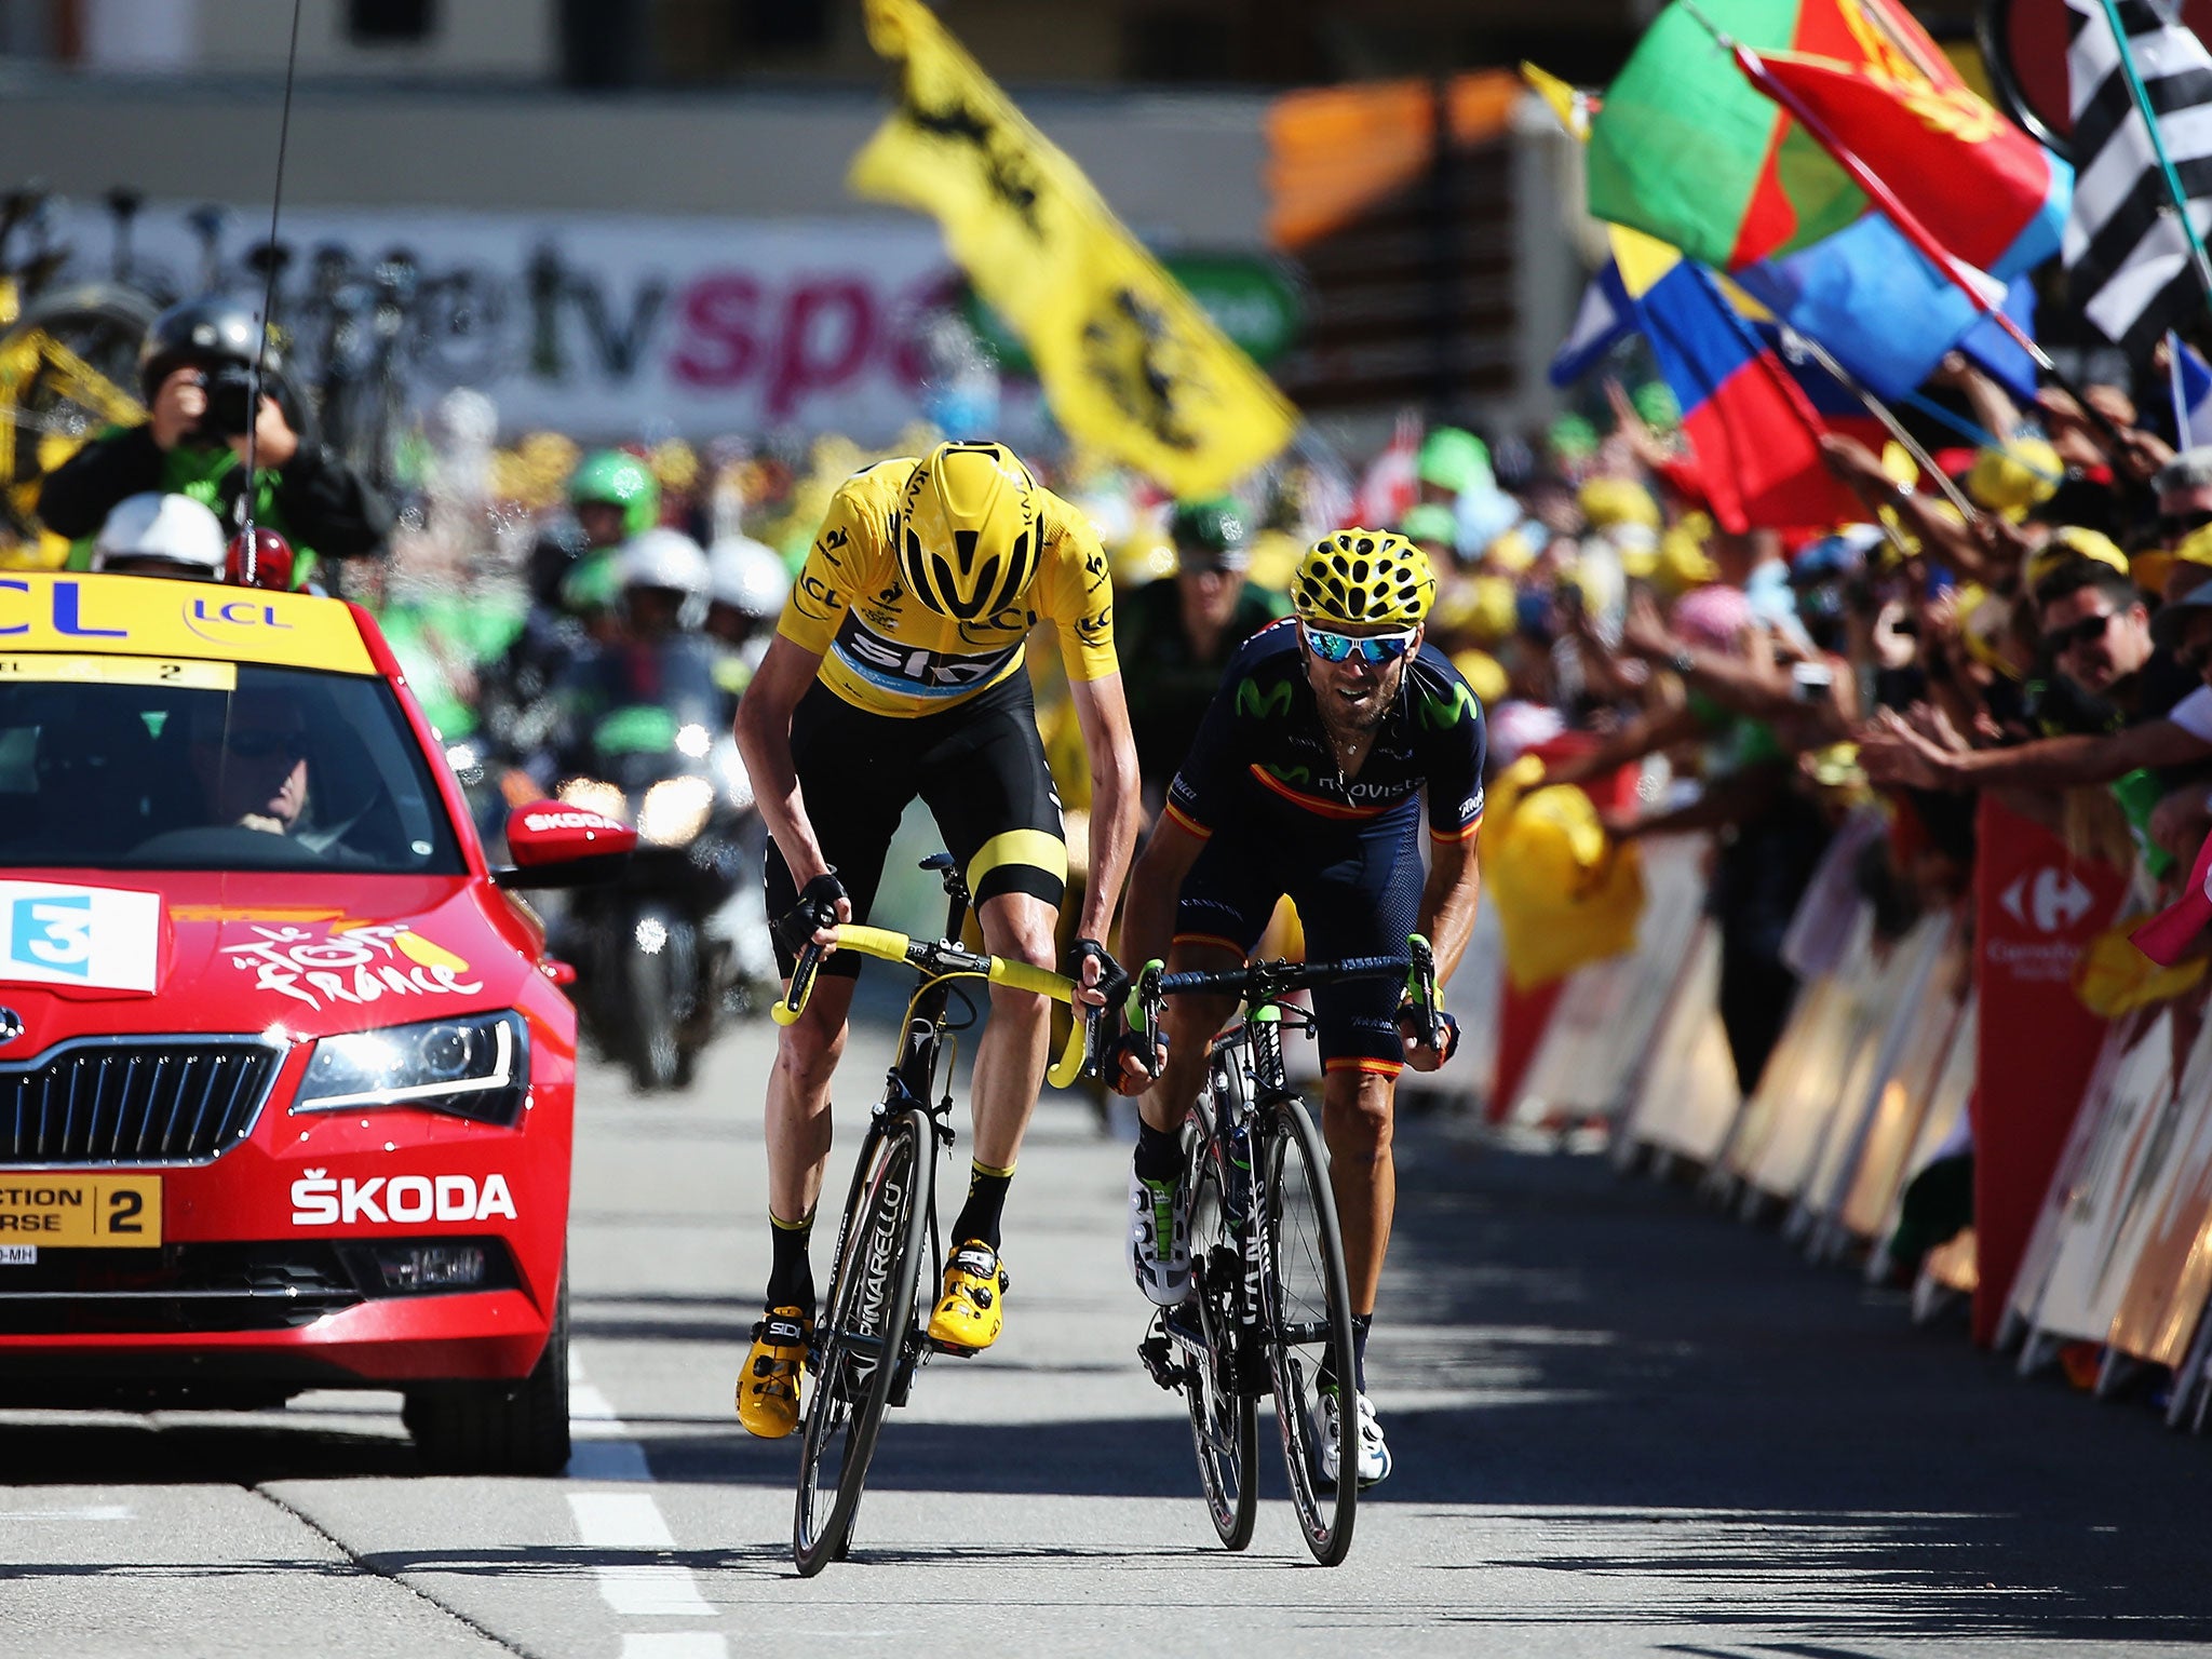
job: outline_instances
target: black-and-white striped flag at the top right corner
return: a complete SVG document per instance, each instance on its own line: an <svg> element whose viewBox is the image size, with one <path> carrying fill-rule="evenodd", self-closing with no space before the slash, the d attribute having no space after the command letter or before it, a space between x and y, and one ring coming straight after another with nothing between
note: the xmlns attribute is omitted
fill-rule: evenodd
<svg viewBox="0 0 2212 1659"><path fill-rule="evenodd" d="M2104 0L2066 0L2073 153L2081 166L2066 221L2066 283L2084 316L2130 354L2205 305L2190 237L2159 166L2143 113L2128 86L2128 62L2159 111L2166 159L2199 228L2212 221L2212 55L2150 0L2117 0L2128 33L2126 58Z"/></svg>

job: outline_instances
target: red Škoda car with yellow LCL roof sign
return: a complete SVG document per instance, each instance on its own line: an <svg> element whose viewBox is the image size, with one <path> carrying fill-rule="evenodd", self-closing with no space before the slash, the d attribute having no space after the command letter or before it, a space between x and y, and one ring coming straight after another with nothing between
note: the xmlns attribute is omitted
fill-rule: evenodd
<svg viewBox="0 0 2212 1659"><path fill-rule="evenodd" d="M376 624L0 573L0 1402L400 1389L434 1469L568 1458L575 1011Z"/></svg>

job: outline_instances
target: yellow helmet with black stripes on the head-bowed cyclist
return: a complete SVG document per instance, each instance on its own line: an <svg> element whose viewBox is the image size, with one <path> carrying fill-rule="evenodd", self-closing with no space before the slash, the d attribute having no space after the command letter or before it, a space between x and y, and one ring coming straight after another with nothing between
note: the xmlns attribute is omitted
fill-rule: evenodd
<svg viewBox="0 0 2212 1659"><path fill-rule="evenodd" d="M931 449L898 504L898 573L940 617L980 622L1022 593L1044 553L1037 487L1004 445Z"/></svg>

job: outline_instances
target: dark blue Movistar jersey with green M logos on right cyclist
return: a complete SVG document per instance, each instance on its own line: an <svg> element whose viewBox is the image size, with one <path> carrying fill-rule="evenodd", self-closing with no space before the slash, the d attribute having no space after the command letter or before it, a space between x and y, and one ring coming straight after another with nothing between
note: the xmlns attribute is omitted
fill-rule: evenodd
<svg viewBox="0 0 2212 1659"><path fill-rule="evenodd" d="M1298 624L1261 628L1230 659L1199 726L1168 812L1208 836L1228 823L1325 818L1411 827L1429 792L1429 834L1467 841L1482 823L1482 703L1433 646L1407 661L1398 706L1358 774L1347 779L1305 679Z"/></svg>

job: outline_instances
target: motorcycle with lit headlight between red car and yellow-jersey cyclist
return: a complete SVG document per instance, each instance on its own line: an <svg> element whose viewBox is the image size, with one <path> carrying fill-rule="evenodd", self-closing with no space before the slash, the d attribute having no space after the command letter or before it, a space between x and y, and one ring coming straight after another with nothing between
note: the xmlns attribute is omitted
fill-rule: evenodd
<svg viewBox="0 0 2212 1659"><path fill-rule="evenodd" d="M555 790L637 830L628 867L575 891L555 940L588 1033L639 1093L690 1086L737 1004L732 916L759 887L752 783L708 659L679 644L659 666L657 701L593 717Z"/></svg>

